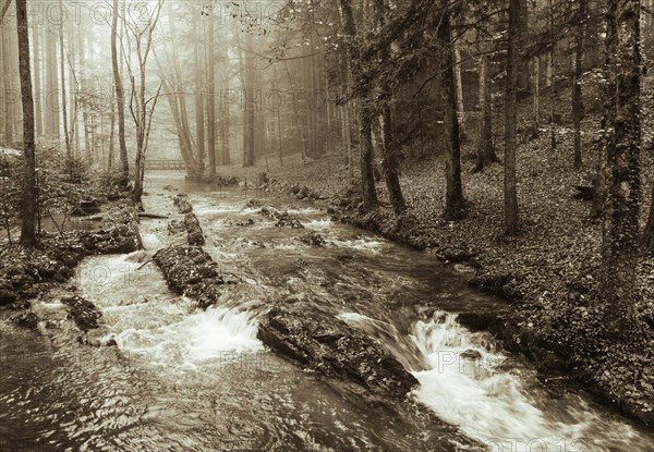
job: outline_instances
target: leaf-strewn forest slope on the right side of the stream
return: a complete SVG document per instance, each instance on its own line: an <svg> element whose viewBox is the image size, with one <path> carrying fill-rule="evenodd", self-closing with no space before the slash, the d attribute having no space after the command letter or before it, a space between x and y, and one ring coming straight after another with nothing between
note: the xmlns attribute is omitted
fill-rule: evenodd
<svg viewBox="0 0 654 452"><path fill-rule="evenodd" d="M504 233L504 167L494 164L472 174L472 142L464 143L462 151L468 201L462 221L441 220L445 162L437 156L402 163L401 185L408 204L405 218L410 221L398 221L388 207L383 183L377 185L383 207L371 213L350 208L343 216L390 239L428 249L444 260L472 264L465 268L465 274L474 274L471 283L514 301L507 313L499 314L502 321L494 330L509 349L526 354L542 368L574 375L600 398L654 425L654 257L643 256L638 267L640 295L635 303L642 325L634 327L627 340L605 337L600 303L602 228L598 221L589 219L591 203L574 196L576 185L590 184L586 176L594 172L597 161L603 97L600 89L592 87L593 76L586 74L590 83L584 85L590 88L584 87L586 119L580 170L572 164L573 133L567 125L571 124L570 87L556 88L555 108L564 124L554 127L555 149L549 124L534 134L531 101L521 105L519 117L524 120L519 124L518 236ZM645 146L641 164L641 227L646 222L654 182L653 93L654 78L650 77L643 87L646 113L642 119ZM541 102L543 111L549 111L547 91ZM501 119L494 129L496 150L502 159ZM268 178L283 181L276 185L278 188L306 186L332 204L351 205L348 196L353 193L353 178L343 154L305 162L299 155L287 156L283 167L270 158L268 166ZM254 168L232 166L220 173L256 181L263 168L265 162L259 161ZM506 328L509 323L512 329Z"/></svg>

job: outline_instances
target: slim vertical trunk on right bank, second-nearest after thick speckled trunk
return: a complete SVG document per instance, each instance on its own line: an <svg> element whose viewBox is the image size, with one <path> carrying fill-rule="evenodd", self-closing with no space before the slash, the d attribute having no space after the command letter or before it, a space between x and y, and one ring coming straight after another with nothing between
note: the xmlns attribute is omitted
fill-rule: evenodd
<svg viewBox="0 0 654 452"><path fill-rule="evenodd" d="M505 118L505 222L508 235L517 234L518 223L518 192L516 181L516 97L518 90L518 75L520 73L520 14L521 1L509 1L509 51L507 56L507 86L506 86L506 118Z"/></svg>

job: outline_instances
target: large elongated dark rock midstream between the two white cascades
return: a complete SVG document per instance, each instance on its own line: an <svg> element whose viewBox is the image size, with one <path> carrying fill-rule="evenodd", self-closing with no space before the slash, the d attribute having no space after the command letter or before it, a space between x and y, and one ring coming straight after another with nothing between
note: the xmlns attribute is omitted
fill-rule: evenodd
<svg viewBox="0 0 654 452"><path fill-rule="evenodd" d="M353 380L378 395L401 399L417 384L376 340L308 303L275 306L257 338L311 369Z"/></svg>

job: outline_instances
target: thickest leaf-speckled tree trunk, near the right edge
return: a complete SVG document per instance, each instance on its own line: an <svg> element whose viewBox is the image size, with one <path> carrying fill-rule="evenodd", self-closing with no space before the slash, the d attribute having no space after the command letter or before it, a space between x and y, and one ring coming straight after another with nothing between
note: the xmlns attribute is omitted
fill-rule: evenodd
<svg viewBox="0 0 654 452"><path fill-rule="evenodd" d="M640 204L640 1L609 0L602 296L611 335L633 331Z"/></svg>

